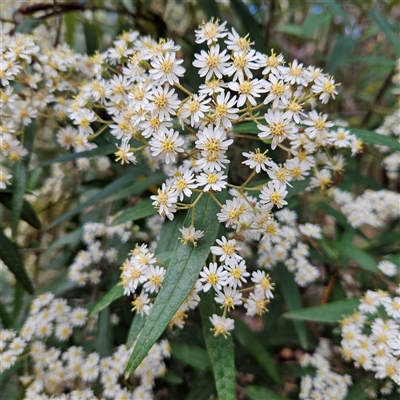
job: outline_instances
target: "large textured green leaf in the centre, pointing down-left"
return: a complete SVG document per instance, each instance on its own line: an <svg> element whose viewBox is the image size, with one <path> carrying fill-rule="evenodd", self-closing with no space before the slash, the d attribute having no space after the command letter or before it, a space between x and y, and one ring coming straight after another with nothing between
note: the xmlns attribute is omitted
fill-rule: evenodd
<svg viewBox="0 0 400 400"><path fill-rule="evenodd" d="M226 191L224 190L217 197L220 202L224 202ZM177 241L165 274L163 287L157 295L136 343L126 367L127 373L132 373L139 366L194 286L210 253L210 246L214 244L217 237L219 229L217 213L219 211L219 206L207 194L204 194L196 204L194 226L196 229L204 231L204 237L198 241L197 247L190 243L185 245L179 240ZM184 226L189 227L190 224L191 212L188 213ZM164 237L161 236L160 242L163 240Z"/></svg>

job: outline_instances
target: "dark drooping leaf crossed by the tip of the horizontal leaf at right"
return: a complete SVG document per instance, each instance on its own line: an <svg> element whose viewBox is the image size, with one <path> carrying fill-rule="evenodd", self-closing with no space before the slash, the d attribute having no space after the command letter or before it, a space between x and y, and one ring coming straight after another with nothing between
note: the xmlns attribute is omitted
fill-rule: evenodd
<svg viewBox="0 0 400 400"><path fill-rule="evenodd" d="M293 274L289 272L286 267L279 264L277 269L279 286L282 291L283 298L285 299L286 307L290 310L297 310L302 308L301 297L299 288L294 280ZM304 349L308 349L307 330L303 321L293 321L299 341Z"/></svg>

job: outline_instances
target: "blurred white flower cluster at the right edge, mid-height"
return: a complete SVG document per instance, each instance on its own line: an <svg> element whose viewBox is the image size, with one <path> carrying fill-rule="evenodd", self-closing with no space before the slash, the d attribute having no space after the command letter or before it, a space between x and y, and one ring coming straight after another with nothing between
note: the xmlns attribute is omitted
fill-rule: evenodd
<svg viewBox="0 0 400 400"><path fill-rule="evenodd" d="M355 196L338 188L329 190L350 225L358 228L364 224L376 228L400 215L400 194L390 190L366 190Z"/></svg>

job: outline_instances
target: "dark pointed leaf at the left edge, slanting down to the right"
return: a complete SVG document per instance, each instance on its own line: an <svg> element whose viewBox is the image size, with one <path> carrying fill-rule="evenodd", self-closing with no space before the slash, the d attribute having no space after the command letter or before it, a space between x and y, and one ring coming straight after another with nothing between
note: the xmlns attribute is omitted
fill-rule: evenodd
<svg viewBox="0 0 400 400"><path fill-rule="evenodd" d="M18 248L2 230L0 230L0 259L7 265L24 289L33 294L33 285L22 263Z"/></svg>

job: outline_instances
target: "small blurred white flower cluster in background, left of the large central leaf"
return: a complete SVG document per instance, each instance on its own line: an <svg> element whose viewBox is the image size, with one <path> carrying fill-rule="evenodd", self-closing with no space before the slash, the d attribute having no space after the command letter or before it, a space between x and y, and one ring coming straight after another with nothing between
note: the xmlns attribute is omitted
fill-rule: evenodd
<svg viewBox="0 0 400 400"><path fill-rule="evenodd" d="M105 224L100 222L87 222L83 225L82 239L87 246L86 250L80 250L73 263L69 266L68 277L79 286L87 283L97 285L100 283L102 260L114 263L118 258L118 250L115 247L105 249L103 240L118 237L121 243L125 243L131 236L131 222L111 226L112 218L109 217ZM94 265L97 267L95 268Z"/></svg>

